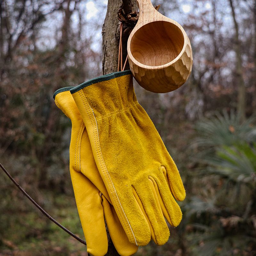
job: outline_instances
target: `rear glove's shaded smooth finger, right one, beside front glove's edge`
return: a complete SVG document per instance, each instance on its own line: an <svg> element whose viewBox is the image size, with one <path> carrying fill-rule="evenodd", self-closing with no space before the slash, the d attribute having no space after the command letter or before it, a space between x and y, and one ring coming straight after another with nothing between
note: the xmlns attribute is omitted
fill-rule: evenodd
<svg viewBox="0 0 256 256"><path fill-rule="evenodd" d="M139 246L129 242L124 228L116 214L116 211L104 195L101 195L102 205L104 209L104 217L108 226L109 235L116 248L116 251L121 256L130 256L138 251Z"/></svg>

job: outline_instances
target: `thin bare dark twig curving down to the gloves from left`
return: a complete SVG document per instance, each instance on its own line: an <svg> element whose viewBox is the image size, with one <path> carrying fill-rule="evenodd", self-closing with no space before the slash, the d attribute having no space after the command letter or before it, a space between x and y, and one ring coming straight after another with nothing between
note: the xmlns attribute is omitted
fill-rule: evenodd
<svg viewBox="0 0 256 256"><path fill-rule="evenodd" d="M12 178L12 176L5 170L4 166L0 163L0 167L3 169L3 171L6 173L6 175L12 180L12 182L21 190L21 192L28 197L28 199L36 205L36 207L44 213L44 215L52 220L52 222L54 222L56 225L58 225L60 228L62 228L63 230L65 230L70 236L73 236L74 238L76 238L76 240L78 240L80 243L82 244L85 244L86 245L86 242L79 238L78 236L76 236L75 234L73 234L72 232L70 232L67 228L63 227L58 221L54 220L47 212L44 211L44 209L39 206L26 192L23 188L20 187L20 185Z"/></svg>

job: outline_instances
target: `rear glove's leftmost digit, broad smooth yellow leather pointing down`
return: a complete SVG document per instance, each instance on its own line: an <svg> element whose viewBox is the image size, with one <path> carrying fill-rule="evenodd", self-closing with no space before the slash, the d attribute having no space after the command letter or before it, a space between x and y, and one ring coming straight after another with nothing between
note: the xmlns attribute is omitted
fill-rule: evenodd
<svg viewBox="0 0 256 256"><path fill-rule="evenodd" d="M103 256L108 252L108 237L99 190L81 172L71 169L70 175L87 252Z"/></svg>

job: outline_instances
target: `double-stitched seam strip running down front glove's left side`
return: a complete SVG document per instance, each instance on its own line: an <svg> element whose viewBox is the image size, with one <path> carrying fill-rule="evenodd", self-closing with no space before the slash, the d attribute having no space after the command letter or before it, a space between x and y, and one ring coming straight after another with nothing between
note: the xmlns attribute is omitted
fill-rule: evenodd
<svg viewBox="0 0 256 256"><path fill-rule="evenodd" d="M94 116L93 110L92 110L91 106L89 105L89 103L87 102L87 100L86 100L86 98L85 98L85 96L84 96L84 93L81 92L81 91L78 91L78 94L79 94L81 100L82 100L83 103L84 103L84 107L85 107L86 113L87 113L87 115L88 115L88 117L89 117L89 119L90 119L90 122L91 122L93 128L95 128L95 122L96 122L96 127L97 127L97 132L96 132L96 134L98 135L97 137L99 137L98 125L97 125L97 121L96 121L96 118L95 118L95 116ZM87 106L85 106L85 104L86 104ZM92 117L91 111L89 111L89 114L88 114L88 109L89 109L88 106L91 108L94 118ZM93 122L92 122L92 121L93 121ZM94 124L94 125L93 125L93 124ZM100 150L100 142L99 142L99 140L97 140L97 144L98 144L98 147L97 147L96 139L95 139L95 129L93 129L93 137L94 137L94 143L95 143L96 150L97 150L97 155L98 155L98 158L100 159L100 157L99 157L99 152L98 152L98 150ZM108 173L108 169L107 169L107 167L106 167L106 165L105 165L105 162L104 162L104 160L103 160L103 156L102 156L101 150L100 150L100 154L101 154L101 159L102 159L102 161L103 161L103 163L104 163L104 168L103 168L102 163L101 163L101 161L100 161L101 168L102 168L102 170L105 169L105 171ZM124 218L123 216L125 216L125 218L126 218L128 224L129 224L129 226L130 226L130 229L129 229L129 228L127 229L127 227L126 227L126 226L127 226L127 222L123 220L123 223L124 223L124 225L125 225L125 229L126 229L126 231L127 231L128 233L130 233L130 236L133 235L133 238L134 238L134 240L135 240L135 243L136 243L136 245L138 245L138 244L137 244L137 241L136 241L136 238L135 238L135 236L134 236L134 234L133 234L131 225L130 225L130 223L129 223L129 221L128 221L128 219L127 219L125 213L124 213L123 207L122 207L122 205L121 205L121 203L120 203L120 201L119 201L119 198L118 198L118 196L117 196L117 194L116 194L116 189L115 189L115 187L114 187L113 182L111 181L111 178L110 178L110 176L109 176L109 173L108 173L108 177L106 176L106 173L105 173L105 172L103 172L103 173L104 173L104 176L105 176L105 178L106 178L106 180L107 180L107 182L108 182L108 186L111 185L112 189L114 189L114 192L115 192L115 193L112 193L112 195L113 195L113 198L114 198L114 199L117 199L118 202L119 202L119 204L117 203L116 206L117 206L117 208L118 208L117 210L118 210L118 212L120 213L120 216L122 217L122 219ZM109 184L109 180L111 181L111 184ZM109 186L109 187L110 187L110 186ZM121 207L121 209L122 209L121 212L120 212L120 209L119 209L120 207ZM132 233L131 233L131 232L132 232Z"/></svg>

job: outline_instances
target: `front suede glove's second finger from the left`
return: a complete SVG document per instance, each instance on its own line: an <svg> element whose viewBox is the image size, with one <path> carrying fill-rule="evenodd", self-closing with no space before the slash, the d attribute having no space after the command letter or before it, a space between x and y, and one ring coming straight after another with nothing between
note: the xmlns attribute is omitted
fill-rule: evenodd
<svg viewBox="0 0 256 256"><path fill-rule="evenodd" d="M170 236L169 228L164 220L162 211L159 211L155 196L150 188L148 181L140 181L135 184L134 189L139 196L143 208L145 209L148 220L150 221L155 236L156 244L165 244ZM152 236L153 237L153 236Z"/></svg>

